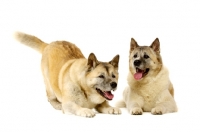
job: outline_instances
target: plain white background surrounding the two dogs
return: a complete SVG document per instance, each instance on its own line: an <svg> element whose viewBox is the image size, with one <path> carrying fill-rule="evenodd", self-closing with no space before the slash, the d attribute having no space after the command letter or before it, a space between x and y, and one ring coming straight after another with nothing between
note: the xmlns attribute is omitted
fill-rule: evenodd
<svg viewBox="0 0 200 132"><path fill-rule="evenodd" d="M177 113L154 116L65 115L47 102L41 55L12 37L14 31L49 43L75 43L85 57L110 61L120 54L118 90L127 85L131 37L150 45L158 37L175 88ZM1 0L0 131L200 131L200 2L198 0Z"/></svg>

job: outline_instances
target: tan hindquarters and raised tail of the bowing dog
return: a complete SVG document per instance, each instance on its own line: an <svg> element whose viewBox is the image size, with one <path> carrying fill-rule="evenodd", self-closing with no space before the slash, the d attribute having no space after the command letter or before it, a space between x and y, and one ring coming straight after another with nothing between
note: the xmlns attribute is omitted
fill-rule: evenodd
<svg viewBox="0 0 200 132"><path fill-rule="evenodd" d="M70 60L85 58L84 55L75 44L67 41L55 41L47 44L35 36L22 32L16 32L14 35L19 42L42 54L41 69L47 96L49 100L57 100L57 97L62 95L59 89L60 69ZM60 106L56 109L60 109Z"/></svg>

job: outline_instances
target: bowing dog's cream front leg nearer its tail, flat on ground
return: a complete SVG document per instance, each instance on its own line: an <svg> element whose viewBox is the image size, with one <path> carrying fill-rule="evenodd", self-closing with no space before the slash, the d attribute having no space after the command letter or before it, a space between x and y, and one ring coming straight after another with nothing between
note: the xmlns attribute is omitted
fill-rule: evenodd
<svg viewBox="0 0 200 132"><path fill-rule="evenodd" d="M62 109L63 109L64 113L70 112L77 116L83 116L83 117L94 117L95 116L95 112L92 109L83 108L72 101L67 101L67 102L63 103Z"/></svg>

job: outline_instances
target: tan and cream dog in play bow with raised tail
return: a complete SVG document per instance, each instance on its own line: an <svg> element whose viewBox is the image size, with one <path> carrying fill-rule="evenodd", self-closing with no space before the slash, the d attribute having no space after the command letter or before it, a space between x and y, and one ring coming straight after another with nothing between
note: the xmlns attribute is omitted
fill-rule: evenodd
<svg viewBox="0 0 200 132"><path fill-rule="evenodd" d="M47 98L55 109L83 117L94 117L96 111L121 113L108 102L114 97L112 91L117 89L119 55L109 62L101 62L94 53L86 59L71 42L47 44L22 32L15 32L14 37L42 54L41 70Z"/></svg>

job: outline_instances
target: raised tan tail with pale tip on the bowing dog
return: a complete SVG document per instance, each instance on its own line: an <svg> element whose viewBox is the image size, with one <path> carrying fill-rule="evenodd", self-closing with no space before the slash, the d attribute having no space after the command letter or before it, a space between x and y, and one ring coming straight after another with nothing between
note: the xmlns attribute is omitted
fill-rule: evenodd
<svg viewBox="0 0 200 132"><path fill-rule="evenodd" d="M42 53L44 48L48 45L45 42L41 41L39 38L22 32L15 32L14 37L22 44L25 44L40 53Z"/></svg>

